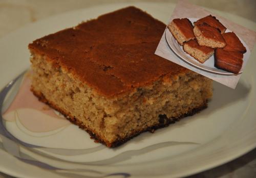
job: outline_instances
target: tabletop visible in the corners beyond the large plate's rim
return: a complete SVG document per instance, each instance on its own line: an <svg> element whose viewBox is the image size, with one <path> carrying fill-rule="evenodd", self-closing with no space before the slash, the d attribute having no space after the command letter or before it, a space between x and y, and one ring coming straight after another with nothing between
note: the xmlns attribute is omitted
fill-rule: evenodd
<svg viewBox="0 0 256 178"><path fill-rule="evenodd" d="M8 1L0 0L0 38L11 33L12 31L25 26L26 24L46 18L59 13L72 11L81 8L88 8L102 4L135 2L133 0L111 0L111 1L90 1L90 0L19 0ZM140 2L146 2L140 0ZM153 2L153 1L152 1ZM177 1L162 1L176 3ZM239 0L215 0L215 1L190 1L202 7L225 11L230 14L241 16L250 23L256 22L255 7L256 1L239 1ZM242 23L239 22L238 23ZM256 23L253 29L256 30ZM233 160L219 167L191 175L189 177L254 177L256 175L256 149L248 152L246 155ZM0 172L1 177L12 177Z"/></svg>

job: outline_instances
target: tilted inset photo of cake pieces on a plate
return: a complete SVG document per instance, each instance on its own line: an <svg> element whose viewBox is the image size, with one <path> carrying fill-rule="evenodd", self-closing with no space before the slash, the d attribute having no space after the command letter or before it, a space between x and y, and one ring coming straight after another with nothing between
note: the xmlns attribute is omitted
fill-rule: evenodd
<svg viewBox="0 0 256 178"><path fill-rule="evenodd" d="M207 11L179 11L182 15L174 11L167 23L155 54L236 88L253 47L243 37L245 32L252 36L254 33L242 26L236 28L238 24Z"/></svg>

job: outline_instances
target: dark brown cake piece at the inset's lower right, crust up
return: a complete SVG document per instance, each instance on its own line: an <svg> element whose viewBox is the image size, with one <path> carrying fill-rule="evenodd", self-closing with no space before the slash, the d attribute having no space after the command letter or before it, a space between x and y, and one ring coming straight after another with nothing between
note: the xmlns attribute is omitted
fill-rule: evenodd
<svg viewBox="0 0 256 178"><path fill-rule="evenodd" d="M215 50L215 67L238 74L243 65L243 54L224 49Z"/></svg>

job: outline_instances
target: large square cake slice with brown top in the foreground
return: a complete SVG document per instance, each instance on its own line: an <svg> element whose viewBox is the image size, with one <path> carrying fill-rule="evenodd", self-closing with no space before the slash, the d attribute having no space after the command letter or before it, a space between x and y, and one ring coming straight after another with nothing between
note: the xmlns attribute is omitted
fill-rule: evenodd
<svg viewBox="0 0 256 178"><path fill-rule="evenodd" d="M154 54L165 28L127 7L37 39L31 90L109 147L194 114L212 81Z"/></svg>

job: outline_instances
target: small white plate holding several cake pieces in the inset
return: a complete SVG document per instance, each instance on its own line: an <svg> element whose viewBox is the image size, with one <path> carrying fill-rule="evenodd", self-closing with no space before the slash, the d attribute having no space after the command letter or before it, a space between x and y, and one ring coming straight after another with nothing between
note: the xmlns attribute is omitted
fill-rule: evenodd
<svg viewBox="0 0 256 178"><path fill-rule="evenodd" d="M195 21L197 21L197 18L188 18L192 23L194 23ZM230 30L226 30L226 32L231 32ZM183 47L181 45L179 45L179 43L176 41L176 39L174 38L174 36L172 35L172 33L170 33L169 30L165 31L165 39L169 45L169 47L173 50L173 52L180 57L182 60L184 60L185 62L187 62L188 64L203 69L205 71L208 72L212 72L212 73L217 73L217 74L223 74L223 75L234 75L234 73L216 68L214 66L214 55L212 55L207 61L205 61L203 64L198 62L195 58L189 56L184 50ZM246 61L250 55L249 55L249 48L248 46L245 44L245 42L239 37L240 41L243 43L243 45L246 47L247 52L244 54L244 58L243 60ZM243 68L245 66L245 62L243 63L242 69L240 70L239 73L242 73Z"/></svg>

